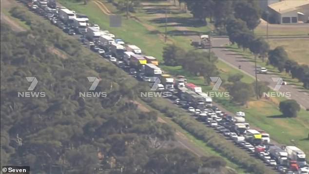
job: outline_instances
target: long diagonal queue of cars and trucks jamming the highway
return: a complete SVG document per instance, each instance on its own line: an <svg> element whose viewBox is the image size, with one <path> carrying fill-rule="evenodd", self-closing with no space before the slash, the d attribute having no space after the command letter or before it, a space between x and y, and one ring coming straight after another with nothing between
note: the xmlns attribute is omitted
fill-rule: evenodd
<svg viewBox="0 0 309 174"><path fill-rule="evenodd" d="M29 4L31 0L25 1ZM42 1L46 1L46 3ZM295 146L271 145L270 135L260 130L251 129L250 124L245 122L244 112L237 112L235 116L225 114L212 105L212 97L204 93L201 87L188 83L183 76L172 77L164 74L158 67L158 60L152 56L142 55L142 50L139 47L131 44L126 45L122 39L115 39L115 35L109 31L100 30L96 24L90 25L89 19L85 15L77 18L78 15L66 7L55 6L54 9L57 10L50 10L51 7L46 7L44 4L50 4L50 1L32 1L32 5L28 6L41 16L46 18L51 16L51 22L68 34L73 31L82 34L79 38L82 43L88 43L91 50L103 58L108 58L133 77L152 83L155 82L152 77L156 77L159 79L158 91L169 92L171 95L167 97L192 113L198 121L213 127L216 132L228 137L236 145L261 158L268 165L275 166L279 172L309 174L306 155L303 151ZM46 16L42 15L41 9L47 12Z"/></svg>

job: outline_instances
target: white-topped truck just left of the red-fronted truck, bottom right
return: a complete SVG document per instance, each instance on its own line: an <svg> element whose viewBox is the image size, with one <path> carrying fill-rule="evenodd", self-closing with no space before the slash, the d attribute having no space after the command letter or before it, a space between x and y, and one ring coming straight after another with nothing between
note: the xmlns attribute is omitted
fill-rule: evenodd
<svg viewBox="0 0 309 174"><path fill-rule="evenodd" d="M289 165L288 153L286 151L275 145L270 146L268 151L270 153L270 157L274 158L278 164L282 166Z"/></svg>

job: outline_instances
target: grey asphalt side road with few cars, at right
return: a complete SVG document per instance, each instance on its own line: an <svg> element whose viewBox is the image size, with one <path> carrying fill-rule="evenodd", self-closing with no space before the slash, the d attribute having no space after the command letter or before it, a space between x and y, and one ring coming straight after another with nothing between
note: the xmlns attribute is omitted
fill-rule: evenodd
<svg viewBox="0 0 309 174"><path fill-rule="evenodd" d="M229 43L228 38L213 38L212 52L214 52L214 54L218 58L222 59L226 63L236 68L238 68L238 65L241 65L241 71L255 78L254 62L244 58L240 54L228 51L226 48L224 48L224 45L227 43ZM270 88L274 89L277 82L274 82L272 78L278 78L278 76L271 74L271 72L268 72L268 74L257 74L257 78L259 81L269 82ZM285 97L287 98L296 100L304 109L309 109L309 94L306 92L302 92L303 90L298 88L299 87L295 85L290 85L288 82L288 85L282 85L278 92L286 94Z"/></svg>

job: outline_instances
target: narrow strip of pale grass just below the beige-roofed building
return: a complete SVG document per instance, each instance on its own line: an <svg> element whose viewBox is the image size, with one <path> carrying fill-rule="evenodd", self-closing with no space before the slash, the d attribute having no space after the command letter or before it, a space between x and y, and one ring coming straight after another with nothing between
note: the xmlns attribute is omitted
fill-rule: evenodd
<svg viewBox="0 0 309 174"><path fill-rule="evenodd" d="M268 35L280 36L280 35L303 35L308 36L309 23L297 23L297 24L269 24ZM254 34L266 35L267 23L261 22L255 29Z"/></svg>

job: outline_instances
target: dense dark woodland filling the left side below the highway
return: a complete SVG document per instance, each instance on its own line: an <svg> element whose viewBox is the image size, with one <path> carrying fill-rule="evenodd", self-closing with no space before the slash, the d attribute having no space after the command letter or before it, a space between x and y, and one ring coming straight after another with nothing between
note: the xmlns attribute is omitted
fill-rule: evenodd
<svg viewBox="0 0 309 174"><path fill-rule="evenodd" d="M195 174L200 166L225 167L222 158L163 148L174 129L130 102L140 86L134 78L30 12L11 13L28 19L31 30L0 25L1 165L30 165L41 174ZM39 80L35 91L46 97L17 97L29 87L27 76ZM99 77L96 92L107 97L79 97L91 86L86 77Z"/></svg>

